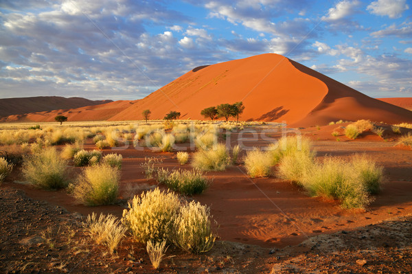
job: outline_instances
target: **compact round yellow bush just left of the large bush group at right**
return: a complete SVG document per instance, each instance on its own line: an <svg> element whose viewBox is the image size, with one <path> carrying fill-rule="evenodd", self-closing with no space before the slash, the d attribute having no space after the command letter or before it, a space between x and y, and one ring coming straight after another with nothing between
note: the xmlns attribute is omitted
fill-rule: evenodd
<svg viewBox="0 0 412 274"><path fill-rule="evenodd" d="M250 150L244 159L247 174L253 177L266 177L272 174L272 157L268 152Z"/></svg>

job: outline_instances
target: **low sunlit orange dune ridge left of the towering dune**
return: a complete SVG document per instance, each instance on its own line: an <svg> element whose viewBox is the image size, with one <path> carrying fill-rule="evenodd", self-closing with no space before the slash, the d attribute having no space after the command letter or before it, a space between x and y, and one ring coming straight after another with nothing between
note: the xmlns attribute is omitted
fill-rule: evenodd
<svg viewBox="0 0 412 274"><path fill-rule="evenodd" d="M128 108L135 101L115 101L78 109L43 111L24 115L11 115L0 119L1 122L54 122L57 115L65 115L69 121L102 121ZM135 117L135 119L138 119Z"/></svg>

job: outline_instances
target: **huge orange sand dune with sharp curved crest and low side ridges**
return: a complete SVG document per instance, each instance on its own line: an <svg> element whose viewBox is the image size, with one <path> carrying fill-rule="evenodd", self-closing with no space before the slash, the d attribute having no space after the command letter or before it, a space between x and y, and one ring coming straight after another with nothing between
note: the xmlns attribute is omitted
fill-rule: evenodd
<svg viewBox="0 0 412 274"><path fill-rule="evenodd" d="M181 119L205 119L202 109L242 101L243 121L286 122L291 126L328 124L339 119L412 122L412 112L360 93L345 84L277 54L262 54L201 66L141 100L118 101L69 112L37 113L8 120L52 121L57 114L69 120L162 119L179 111Z"/></svg>

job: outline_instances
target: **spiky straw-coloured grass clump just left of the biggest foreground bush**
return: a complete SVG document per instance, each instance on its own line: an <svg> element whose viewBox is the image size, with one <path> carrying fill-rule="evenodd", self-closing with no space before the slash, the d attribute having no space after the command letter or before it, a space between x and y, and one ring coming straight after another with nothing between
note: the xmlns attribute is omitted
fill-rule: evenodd
<svg viewBox="0 0 412 274"><path fill-rule="evenodd" d="M127 231L115 216L100 214L98 218L94 212L87 216L83 226L91 240L96 244L103 244L111 254L117 251L117 246Z"/></svg>

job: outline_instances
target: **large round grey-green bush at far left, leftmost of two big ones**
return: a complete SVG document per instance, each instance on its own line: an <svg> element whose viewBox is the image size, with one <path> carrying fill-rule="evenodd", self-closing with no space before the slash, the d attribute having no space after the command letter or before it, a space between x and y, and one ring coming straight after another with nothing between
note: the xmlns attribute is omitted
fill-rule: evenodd
<svg viewBox="0 0 412 274"><path fill-rule="evenodd" d="M24 178L44 189L67 187L67 161L62 159L56 148L47 148L23 159Z"/></svg>

